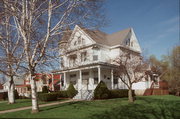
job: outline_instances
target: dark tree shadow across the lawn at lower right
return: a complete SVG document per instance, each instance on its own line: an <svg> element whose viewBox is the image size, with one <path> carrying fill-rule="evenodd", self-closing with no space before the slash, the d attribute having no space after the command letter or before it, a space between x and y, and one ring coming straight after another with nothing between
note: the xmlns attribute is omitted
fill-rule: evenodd
<svg viewBox="0 0 180 119"><path fill-rule="evenodd" d="M94 114L90 119L180 119L180 101L138 99L141 104L119 105L109 111Z"/></svg>

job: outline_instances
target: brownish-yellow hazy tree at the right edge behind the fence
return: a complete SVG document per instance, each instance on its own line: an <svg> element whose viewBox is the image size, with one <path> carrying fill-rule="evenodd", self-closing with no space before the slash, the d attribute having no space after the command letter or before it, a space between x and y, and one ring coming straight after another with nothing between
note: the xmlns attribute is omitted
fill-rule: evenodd
<svg viewBox="0 0 180 119"><path fill-rule="evenodd" d="M180 46L172 49L169 55L163 55L161 60L150 56L151 71L158 74L161 80L168 81L170 94L180 93ZM178 94L179 95L179 94Z"/></svg>

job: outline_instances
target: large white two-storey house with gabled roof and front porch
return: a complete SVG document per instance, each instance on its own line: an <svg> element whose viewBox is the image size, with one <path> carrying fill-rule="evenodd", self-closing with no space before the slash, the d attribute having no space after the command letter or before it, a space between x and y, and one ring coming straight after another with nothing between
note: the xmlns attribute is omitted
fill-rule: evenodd
<svg viewBox="0 0 180 119"><path fill-rule="evenodd" d="M75 98L82 99L90 99L101 80L109 89L126 89L120 79L114 76L117 65L113 60L127 50L133 55L141 54L132 28L106 34L76 25L72 32L64 35L60 49L61 70L56 73L62 74L61 89L67 89L72 83L79 92ZM144 90L150 85L150 81L142 81L133 88Z"/></svg>

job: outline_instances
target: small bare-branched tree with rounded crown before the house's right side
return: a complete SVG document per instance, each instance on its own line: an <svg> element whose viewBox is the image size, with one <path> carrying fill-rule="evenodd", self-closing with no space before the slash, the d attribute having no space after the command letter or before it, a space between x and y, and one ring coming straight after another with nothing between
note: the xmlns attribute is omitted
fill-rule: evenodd
<svg viewBox="0 0 180 119"><path fill-rule="evenodd" d="M146 78L147 64L139 54L132 54L130 51L117 57L114 62L118 65L115 75L127 86L129 102L134 102L132 85Z"/></svg>

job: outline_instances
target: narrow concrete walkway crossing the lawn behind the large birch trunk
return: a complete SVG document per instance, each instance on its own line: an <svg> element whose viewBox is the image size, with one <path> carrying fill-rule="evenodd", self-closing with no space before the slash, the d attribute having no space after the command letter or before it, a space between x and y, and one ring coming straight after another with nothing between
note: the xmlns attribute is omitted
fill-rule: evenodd
<svg viewBox="0 0 180 119"><path fill-rule="evenodd" d="M53 102L53 103L48 103L48 104L41 104L39 105L39 107L46 107L46 106L52 106L52 105L58 105L58 104L63 104L63 103L68 103L68 102L77 102L80 100L66 100L66 101L62 101L62 102ZM16 112L16 111L21 111L21 110L26 110L26 109L31 109L32 106L28 106L28 107L21 107L21 108L15 108L15 109L10 109L10 110L4 110L4 111L0 111L0 114L3 113L9 113L9 112Z"/></svg>

